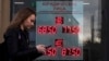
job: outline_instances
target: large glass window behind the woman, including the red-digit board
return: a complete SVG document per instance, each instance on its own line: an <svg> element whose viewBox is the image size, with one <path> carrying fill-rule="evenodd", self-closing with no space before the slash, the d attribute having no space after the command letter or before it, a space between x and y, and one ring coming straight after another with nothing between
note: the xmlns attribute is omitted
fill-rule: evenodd
<svg viewBox="0 0 109 61"><path fill-rule="evenodd" d="M36 25L29 32L31 45L51 45L48 54L36 61L101 61L101 0L11 1L12 16L25 7L36 11ZM78 57L74 48L78 50Z"/></svg>

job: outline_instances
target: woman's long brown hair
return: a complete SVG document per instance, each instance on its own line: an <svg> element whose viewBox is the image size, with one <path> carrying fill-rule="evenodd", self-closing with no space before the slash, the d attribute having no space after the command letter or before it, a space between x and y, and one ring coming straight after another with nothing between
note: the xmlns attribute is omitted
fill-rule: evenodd
<svg viewBox="0 0 109 61"><path fill-rule="evenodd" d="M11 24L8 28L19 27L29 15L35 14L35 11L33 11L29 8L24 8L20 10L13 17Z"/></svg>

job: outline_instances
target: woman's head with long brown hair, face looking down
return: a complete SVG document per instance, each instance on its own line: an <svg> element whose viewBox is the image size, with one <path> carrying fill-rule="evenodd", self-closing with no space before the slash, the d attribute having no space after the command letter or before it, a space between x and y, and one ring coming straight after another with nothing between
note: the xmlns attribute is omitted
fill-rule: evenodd
<svg viewBox="0 0 109 61"><path fill-rule="evenodd" d="M10 27L20 27L21 25L24 28L31 28L34 26L36 13L29 8L20 10L13 17Z"/></svg>

